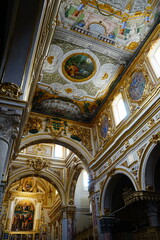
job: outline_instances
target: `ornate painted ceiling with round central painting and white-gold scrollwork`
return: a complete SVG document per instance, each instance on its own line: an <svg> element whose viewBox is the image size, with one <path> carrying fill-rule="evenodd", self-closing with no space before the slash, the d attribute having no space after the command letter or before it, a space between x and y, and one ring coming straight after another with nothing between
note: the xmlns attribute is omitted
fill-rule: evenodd
<svg viewBox="0 0 160 240"><path fill-rule="evenodd" d="M158 0L62 1L32 110L90 122L158 14Z"/></svg>

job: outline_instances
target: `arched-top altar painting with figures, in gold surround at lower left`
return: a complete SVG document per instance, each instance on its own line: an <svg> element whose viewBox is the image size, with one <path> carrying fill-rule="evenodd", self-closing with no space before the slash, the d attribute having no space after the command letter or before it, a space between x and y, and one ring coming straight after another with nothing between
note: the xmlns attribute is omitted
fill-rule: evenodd
<svg viewBox="0 0 160 240"><path fill-rule="evenodd" d="M34 205L30 201L20 201L14 211L12 231L32 231Z"/></svg>

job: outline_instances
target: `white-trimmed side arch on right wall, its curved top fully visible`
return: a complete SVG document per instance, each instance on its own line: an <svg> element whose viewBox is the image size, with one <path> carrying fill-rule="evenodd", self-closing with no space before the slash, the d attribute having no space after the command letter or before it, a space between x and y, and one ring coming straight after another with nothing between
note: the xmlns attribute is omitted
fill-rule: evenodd
<svg viewBox="0 0 160 240"><path fill-rule="evenodd" d="M118 183L120 176L124 176L126 179L128 179L128 181L130 182L130 186L132 186L132 189L134 189L134 190L138 189L138 186L135 183L133 176L129 172L127 172L121 168L116 169L114 171L114 175L107 176L105 183L103 185L103 189L102 189L101 196L100 196L100 213L101 213L101 215L105 214L105 208L108 208L108 209L111 208L113 191ZM107 193L109 196L108 199L106 199ZM106 202L106 200L107 200L107 202Z"/></svg>

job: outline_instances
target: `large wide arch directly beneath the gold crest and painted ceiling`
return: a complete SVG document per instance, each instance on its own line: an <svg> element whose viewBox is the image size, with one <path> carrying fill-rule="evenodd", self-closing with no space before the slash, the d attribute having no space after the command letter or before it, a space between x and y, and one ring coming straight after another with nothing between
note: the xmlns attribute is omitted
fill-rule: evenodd
<svg viewBox="0 0 160 240"><path fill-rule="evenodd" d="M75 142L74 140L67 138L67 137L61 137L61 138L53 138L51 135L47 133L40 133L40 134L34 134L33 136L26 136L21 141L20 151L26 147L29 147L34 144L39 143L54 143L62 145L72 152L74 152L84 163L84 165L87 167L89 162L92 161L93 157L92 155L86 150L85 147L83 147L78 142Z"/></svg>

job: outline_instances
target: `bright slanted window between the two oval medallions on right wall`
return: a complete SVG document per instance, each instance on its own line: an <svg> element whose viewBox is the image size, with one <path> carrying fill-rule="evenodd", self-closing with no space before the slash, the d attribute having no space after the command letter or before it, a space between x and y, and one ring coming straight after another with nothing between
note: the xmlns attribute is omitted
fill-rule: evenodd
<svg viewBox="0 0 160 240"><path fill-rule="evenodd" d="M116 125L118 125L127 116L127 111L122 98L122 94L119 94L113 100L112 107L113 107L115 123Z"/></svg>

